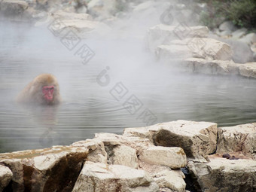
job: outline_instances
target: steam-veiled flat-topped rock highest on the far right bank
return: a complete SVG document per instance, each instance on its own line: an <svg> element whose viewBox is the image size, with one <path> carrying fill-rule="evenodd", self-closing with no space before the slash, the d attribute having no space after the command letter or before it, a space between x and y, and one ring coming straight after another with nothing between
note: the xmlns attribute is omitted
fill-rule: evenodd
<svg viewBox="0 0 256 192"><path fill-rule="evenodd" d="M159 24L148 29L145 36L147 47L151 52L161 44L169 45L172 40L184 38L206 38L209 29L206 26L168 26Z"/></svg>

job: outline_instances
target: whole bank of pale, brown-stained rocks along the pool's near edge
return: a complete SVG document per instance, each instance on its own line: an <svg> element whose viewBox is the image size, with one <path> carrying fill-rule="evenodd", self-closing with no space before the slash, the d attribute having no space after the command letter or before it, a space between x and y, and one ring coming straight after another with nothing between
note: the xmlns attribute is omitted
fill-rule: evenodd
<svg viewBox="0 0 256 192"><path fill-rule="evenodd" d="M255 141L256 123L177 120L97 133L72 145L0 154L0 189L255 191Z"/></svg>

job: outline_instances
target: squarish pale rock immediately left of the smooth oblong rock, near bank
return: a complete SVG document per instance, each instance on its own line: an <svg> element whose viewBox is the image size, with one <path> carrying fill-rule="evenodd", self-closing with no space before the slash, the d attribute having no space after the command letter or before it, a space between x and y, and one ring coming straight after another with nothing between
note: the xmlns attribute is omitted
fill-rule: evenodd
<svg viewBox="0 0 256 192"><path fill-rule="evenodd" d="M117 146L113 149L111 162L116 165L130 166L133 169L138 169L136 150L125 145Z"/></svg>

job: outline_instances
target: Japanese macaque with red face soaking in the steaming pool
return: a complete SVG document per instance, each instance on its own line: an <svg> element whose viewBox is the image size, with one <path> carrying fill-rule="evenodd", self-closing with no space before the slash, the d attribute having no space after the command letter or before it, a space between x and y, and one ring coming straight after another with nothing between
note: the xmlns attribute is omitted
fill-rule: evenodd
<svg viewBox="0 0 256 192"><path fill-rule="evenodd" d="M55 105L61 102L59 84L50 74L38 75L31 81L17 97L20 103L35 103L42 105Z"/></svg>

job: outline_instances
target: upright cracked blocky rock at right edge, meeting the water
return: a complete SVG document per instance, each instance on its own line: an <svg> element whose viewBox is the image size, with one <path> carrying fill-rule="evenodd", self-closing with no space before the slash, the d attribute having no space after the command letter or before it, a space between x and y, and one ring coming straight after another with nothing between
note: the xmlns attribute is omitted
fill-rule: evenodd
<svg viewBox="0 0 256 192"><path fill-rule="evenodd" d="M238 151L256 160L256 123L218 128L216 153L227 154Z"/></svg>

